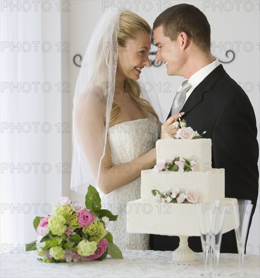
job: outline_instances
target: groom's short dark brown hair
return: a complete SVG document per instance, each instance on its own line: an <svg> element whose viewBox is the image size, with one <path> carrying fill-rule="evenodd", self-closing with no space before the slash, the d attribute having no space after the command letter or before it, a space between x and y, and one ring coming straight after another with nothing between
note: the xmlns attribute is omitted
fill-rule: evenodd
<svg viewBox="0 0 260 278"><path fill-rule="evenodd" d="M179 4L161 13L153 23L153 30L163 26L164 35L175 41L181 32L203 51L211 49L211 26L206 16L195 6Z"/></svg>

